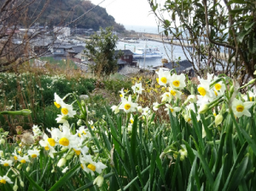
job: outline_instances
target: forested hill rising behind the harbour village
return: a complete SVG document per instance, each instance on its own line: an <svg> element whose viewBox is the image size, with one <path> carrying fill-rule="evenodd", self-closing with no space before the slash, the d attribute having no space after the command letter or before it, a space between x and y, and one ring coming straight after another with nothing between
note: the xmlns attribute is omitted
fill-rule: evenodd
<svg viewBox="0 0 256 191"><path fill-rule="evenodd" d="M29 18L32 18L32 15L39 14L44 8L45 2L46 0L40 0L32 3L28 11ZM58 26L60 23L64 25L71 22L71 20L75 20L94 6L95 5L90 3L90 1L51 0L37 22L39 25L44 25L46 22L48 26ZM32 21L33 19L29 20L29 22ZM113 26L114 30L117 32L125 30L123 25L115 22L113 16L109 15L106 9L99 6L91 10L88 14L85 14L78 21L71 23L69 26L87 29L92 28L94 30L98 30L100 26L103 28Z"/></svg>

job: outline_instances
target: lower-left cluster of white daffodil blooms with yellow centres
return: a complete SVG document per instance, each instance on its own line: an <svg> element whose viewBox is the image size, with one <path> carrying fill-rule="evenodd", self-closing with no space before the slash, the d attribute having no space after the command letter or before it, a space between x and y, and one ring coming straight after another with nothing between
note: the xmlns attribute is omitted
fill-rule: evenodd
<svg viewBox="0 0 256 191"><path fill-rule="evenodd" d="M68 94L67 96L74 96ZM17 190L17 179L20 185L23 184L23 178L20 177L19 171L30 171L30 166L35 160L39 160L40 155L44 154L56 161L54 168L60 168L62 173L68 172L70 166L79 164L80 169L87 174L94 176L102 176L104 169L108 166L102 163L102 157L99 148L93 142L92 135L96 136L96 125L92 120L87 120L89 111L80 101L77 101L80 111L79 113L73 107L73 104L67 104L64 100L55 94L55 107L60 109L60 113L56 121L59 123L58 128L46 128L42 131L38 125L32 126L32 132L17 128L20 134L16 138L16 144L13 153L3 153L0 155L1 168L8 169L5 176L0 177L0 183L13 184L14 190ZM11 113L11 112L8 112ZM4 113L5 114L5 113ZM80 114L80 115L79 115ZM73 129L68 123L68 119L78 118L79 129ZM1 144L5 143L8 132L4 132L1 136ZM87 147L89 145L89 147ZM93 153L93 154L91 154ZM104 153L104 152L103 152ZM108 153L104 156L104 161L108 160ZM53 171L54 172L54 169ZM11 175L11 176L10 176ZM102 180L98 177L97 184Z"/></svg>

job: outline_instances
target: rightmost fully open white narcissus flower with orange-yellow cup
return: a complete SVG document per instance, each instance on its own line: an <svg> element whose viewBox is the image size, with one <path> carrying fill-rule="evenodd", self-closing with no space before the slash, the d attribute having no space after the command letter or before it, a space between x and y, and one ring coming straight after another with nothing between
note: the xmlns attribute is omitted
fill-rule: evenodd
<svg viewBox="0 0 256 191"><path fill-rule="evenodd" d="M243 115L247 117L251 117L251 113L249 113L248 109L253 106L254 101L241 101L234 98L232 101L232 110L237 118L240 118Z"/></svg>

